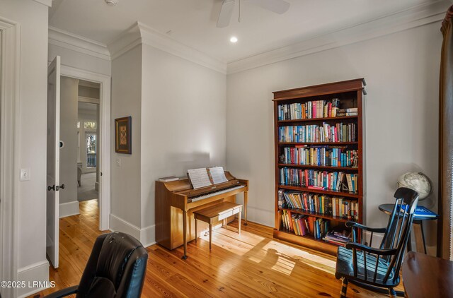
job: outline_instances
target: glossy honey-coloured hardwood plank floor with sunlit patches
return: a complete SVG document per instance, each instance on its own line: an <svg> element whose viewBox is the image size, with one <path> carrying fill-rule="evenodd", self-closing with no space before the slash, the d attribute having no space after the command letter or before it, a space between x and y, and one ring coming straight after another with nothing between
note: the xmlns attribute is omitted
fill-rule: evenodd
<svg viewBox="0 0 453 298"><path fill-rule="evenodd" d="M98 231L96 200L80 203L80 215L60 219L60 267L50 269L54 289L79 283ZM335 258L273 239L273 229L249 222L236 232L237 222L226 229L168 251L149 246L147 276L142 297L339 297ZM108 231L105 231L108 232ZM398 290L402 289L402 283ZM388 297L349 285L348 297Z"/></svg>

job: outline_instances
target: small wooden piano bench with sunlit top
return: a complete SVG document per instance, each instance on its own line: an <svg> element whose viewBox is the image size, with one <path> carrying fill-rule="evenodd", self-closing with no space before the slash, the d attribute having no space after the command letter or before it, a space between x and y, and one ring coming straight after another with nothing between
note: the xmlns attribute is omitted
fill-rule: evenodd
<svg viewBox="0 0 453 298"><path fill-rule="evenodd" d="M195 217L195 243L197 243L197 220L206 222L210 225L210 250L212 242L212 224L223 220L225 225L226 218L231 215L239 213L239 234L241 234L241 212L242 205L231 203L231 202L222 202L217 205L212 205L210 207L194 211L193 215Z"/></svg>

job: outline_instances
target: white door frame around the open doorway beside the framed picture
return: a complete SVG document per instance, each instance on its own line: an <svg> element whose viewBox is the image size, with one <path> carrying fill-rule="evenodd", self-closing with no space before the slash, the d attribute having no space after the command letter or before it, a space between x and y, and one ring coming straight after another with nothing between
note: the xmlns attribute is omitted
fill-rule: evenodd
<svg viewBox="0 0 453 298"><path fill-rule="evenodd" d="M99 83L101 85L101 100L99 108L101 117L99 119L99 139L101 140L101 156L98 159L100 171L102 173L99 180L99 230L110 229L110 76L101 73L93 73L80 68L61 65L61 75L70 78L79 78L84 81Z"/></svg>

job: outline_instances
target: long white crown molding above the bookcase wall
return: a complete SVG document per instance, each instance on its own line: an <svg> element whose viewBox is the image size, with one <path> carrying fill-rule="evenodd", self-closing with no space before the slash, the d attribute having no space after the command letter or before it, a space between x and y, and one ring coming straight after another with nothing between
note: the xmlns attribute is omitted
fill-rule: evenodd
<svg viewBox="0 0 453 298"><path fill-rule="evenodd" d="M255 54L227 64L227 74L246 71L251 68L265 66L299 56L334 49L372 38L390 35L395 32L408 30L421 25L427 25L443 20L445 11L452 0L436 1L421 4L413 8L391 13L382 18L360 23L348 28L342 28L326 35L309 38L296 44L289 44L279 49Z"/></svg>

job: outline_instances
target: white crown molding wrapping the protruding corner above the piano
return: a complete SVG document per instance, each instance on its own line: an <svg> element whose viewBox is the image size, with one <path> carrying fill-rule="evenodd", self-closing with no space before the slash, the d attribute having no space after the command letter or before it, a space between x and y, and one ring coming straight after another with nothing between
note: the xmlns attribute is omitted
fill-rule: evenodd
<svg viewBox="0 0 453 298"><path fill-rule="evenodd" d="M226 73L226 63L223 61L219 61L197 49L173 40L168 35L162 34L140 22L135 23L118 35L115 40L108 44L108 49L110 49L112 59L116 59L138 44L147 44L150 47L161 49L195 64L211 68L214 71Z"/></svg>

